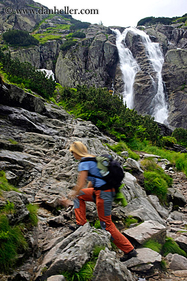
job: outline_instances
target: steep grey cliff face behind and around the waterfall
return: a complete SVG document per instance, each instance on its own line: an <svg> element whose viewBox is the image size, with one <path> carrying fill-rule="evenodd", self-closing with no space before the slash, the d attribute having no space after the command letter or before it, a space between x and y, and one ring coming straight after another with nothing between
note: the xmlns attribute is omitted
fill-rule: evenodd
<svg viewBox="0 0 187 281"><path fill-rule="evenodd" d="M124 90L124 81L120 70L115 34L112 29L124 30L121 27L106 28L101 25L90 25L81 29L86 38L74 38L76 44L66 51L60 47L68 39L73 24L70 18L61 15L48 17L47 15L15 15L5 14L5 4L2 8L1 29L25 29L32 31L40 22L33 34L39 35L41 41L34 48L9 48L12 57L21 61L29 61L36 68L52 69L57 82L62 86L75 87L77 84L88 86L107 87L115 93L121 94ZM29 2L7 1L6 5L15 8L32 8L41 6L30 0ZM44 20L45 19L45 20ZM43 21L41 21L43 20ZM26 22L26 24L25 24ZM139 27L143 29L153 42L161 45L164 54L163 81L165 95L169 109L168 122L173 127L187 128L186 122L186 50L187 31L182 28L165 25ZM47 34L54 36L47 39ZM3 43L3 42L2 42ZM151 101L154 96L156 75L151 62L146 56L145 46L139 35L128 32L125 44L128 46L140 66L133 84L135 109L141 114L151 114ZM2 45L4 46L4 45Z"/></svg>

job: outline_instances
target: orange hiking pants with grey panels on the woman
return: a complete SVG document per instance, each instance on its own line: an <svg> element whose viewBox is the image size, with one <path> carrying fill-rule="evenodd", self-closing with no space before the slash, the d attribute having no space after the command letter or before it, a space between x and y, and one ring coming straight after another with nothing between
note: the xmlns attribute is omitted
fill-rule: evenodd
<svg viewBox="0 0 187 281"><path fill-rule="evenodd" d="M95 198L93 193L95 193ZM82 189L79 192L79 195L74 199L76 223L84 225L87 222L85 201L96 202L101 228L109 231L114 244L123 252L128 253L133 250L132 244L120 233L111 220L111 209L114 195L114 189L106 191L94 190L93 188Z"/></svg>

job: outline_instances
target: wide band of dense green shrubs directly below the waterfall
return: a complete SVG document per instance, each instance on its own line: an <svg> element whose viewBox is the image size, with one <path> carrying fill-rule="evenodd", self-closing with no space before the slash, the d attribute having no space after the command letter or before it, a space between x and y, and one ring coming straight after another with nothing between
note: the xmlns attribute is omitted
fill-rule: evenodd
<svg viewBox="0 0 187 281"><path fill-rule="evenodd" d="M134 109L123 104L122 98L112 96L106 88L77 86L63 87L60 90L60 104L78 118L93 122L105 133L115 135L118 140L127 143L134 138L159 145L161 135L154 119L141 116Z"/></svg>

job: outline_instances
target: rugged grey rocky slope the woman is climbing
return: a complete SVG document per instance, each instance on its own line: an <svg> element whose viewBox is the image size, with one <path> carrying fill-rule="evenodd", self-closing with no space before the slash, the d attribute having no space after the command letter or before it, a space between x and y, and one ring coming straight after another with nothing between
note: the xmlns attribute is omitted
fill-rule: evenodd
<svg viewBox="0 0 187 281"><path fill-rule="evenodd" d="M44 103L14 85L1 85L0 93L0 170L6 172L9 182L16 184L20 192L3 192L0 208L7 200L13 202L15 213L9 215L9 220L22 222L28 215L25 204L30 202L39 206L38 227L33 228L27 237L30 256L25 256L23 265L10 276L0 275L0 278L12 281L65 280L65 271L69 274L78 272L93 261L95 247L102 246L103 250L95 261L93 280L101 281L104 277L112 281L115 274L117 280L135 281L136 275L150 274L150 270L159 275L162 256L149 248L142 248L144 242L155 239L163 244L167 233L186 249L187 218L182 213L173 212L173 205L180 206L182 210L186 204L184 195L179 191L179 180L169 190L170 202L164 207L156 196L147 196L133 176L142 176L140 163L131 158L125 161L124 157L109 150L105 144L115 142L99 132L91 122L74 119L61 106ZM122 253L111 250L108 232L95 229L89 223L73 233L68 229L68 224L75 221L74 210L72 204L67 209L62 208L61 202L67 199L77 178L77 161L69 152L69 146L75 140L86 144L91 154L112 154L126 169L122 192L128 205L124 208L114 203L112 216L118 228L137 248L138 256L130 261L119 262ZM149 156L142 154L142 157ZM174 174L169 161L152 156L157 162L159 158L159 164L168 173ZM127 172L128 169L132 174ZM185 194L185 181L182 187ZM125 230L124 219L128 216L137 218L142 224L131 225L132 228ZM92 202L87 204L87 218L89 221L97 218ZM170 254L167 259L171 270L186 268L185 257ZM171 280L175 281L174 278Z"/></svg>

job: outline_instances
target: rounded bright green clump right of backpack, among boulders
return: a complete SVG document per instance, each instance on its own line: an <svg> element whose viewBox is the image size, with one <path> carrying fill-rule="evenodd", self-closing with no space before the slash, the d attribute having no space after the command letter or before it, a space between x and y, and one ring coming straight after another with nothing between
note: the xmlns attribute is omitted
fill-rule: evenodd
<svg viewBox="0 0 187 281"><path fill-rule="evenodd" d="M168 184L157 172L144 172L144 188L150 194L156 195L161 201L166 200Z"/></svg>

